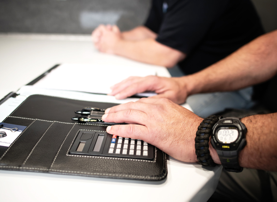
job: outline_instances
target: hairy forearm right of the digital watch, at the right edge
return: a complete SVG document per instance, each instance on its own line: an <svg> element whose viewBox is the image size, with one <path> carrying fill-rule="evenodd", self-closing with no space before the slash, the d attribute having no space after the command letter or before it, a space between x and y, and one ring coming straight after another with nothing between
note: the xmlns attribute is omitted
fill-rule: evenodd
<svg viewBox="0 0 277 202"><path fill-rule="evenodd" d="M239 155L242 167L277 171L277 113L242 118L247 145Z"/></svg>

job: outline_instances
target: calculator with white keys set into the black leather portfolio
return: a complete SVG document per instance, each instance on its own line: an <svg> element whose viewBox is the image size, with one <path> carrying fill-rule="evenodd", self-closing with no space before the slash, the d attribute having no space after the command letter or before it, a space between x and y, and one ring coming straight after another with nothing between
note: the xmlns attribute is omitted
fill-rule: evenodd
<svg viewBox="0 0 277 202"><path fill-rule="evenodd" d="M123 138L107 132L80 130L69 153L153 160L154 146L142 140Z"/></svg>

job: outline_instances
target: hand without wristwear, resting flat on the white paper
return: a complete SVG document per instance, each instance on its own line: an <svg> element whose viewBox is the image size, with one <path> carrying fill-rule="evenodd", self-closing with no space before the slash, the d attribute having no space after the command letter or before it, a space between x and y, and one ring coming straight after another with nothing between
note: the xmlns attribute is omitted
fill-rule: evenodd
<svg viewBox="0 0 277 202"><path fill-rule="evenodd" d="M129 77L111 87L112 92L109 95L114 95L116 99L121 100L136 93L154 91L158 95L152 98L167 98L177 104L182 104L188 96L186 83L186 77Z"/></svg>

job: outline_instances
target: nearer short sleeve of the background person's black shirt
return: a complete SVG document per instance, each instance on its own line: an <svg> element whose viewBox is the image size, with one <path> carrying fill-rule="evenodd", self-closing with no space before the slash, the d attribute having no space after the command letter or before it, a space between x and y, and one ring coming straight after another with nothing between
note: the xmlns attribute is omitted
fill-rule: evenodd
<svg viewBox="0 0 277 202"><path fill-rule="evenodd" d="M168 0L156 41L189 54L227 3L228 0Z"/></svg>

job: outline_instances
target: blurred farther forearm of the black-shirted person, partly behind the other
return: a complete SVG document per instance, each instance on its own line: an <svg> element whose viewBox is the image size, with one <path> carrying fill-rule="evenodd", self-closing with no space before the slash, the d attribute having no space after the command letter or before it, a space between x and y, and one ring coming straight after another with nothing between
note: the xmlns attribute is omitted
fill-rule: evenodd
<svg viewBox="0 0 277 202"><path fill-rule="evenodd" d="M139 26L129 31L121 33L122 39L130 41L138 41L144 39L156 39L157 34L145 26Z"/></svg>

